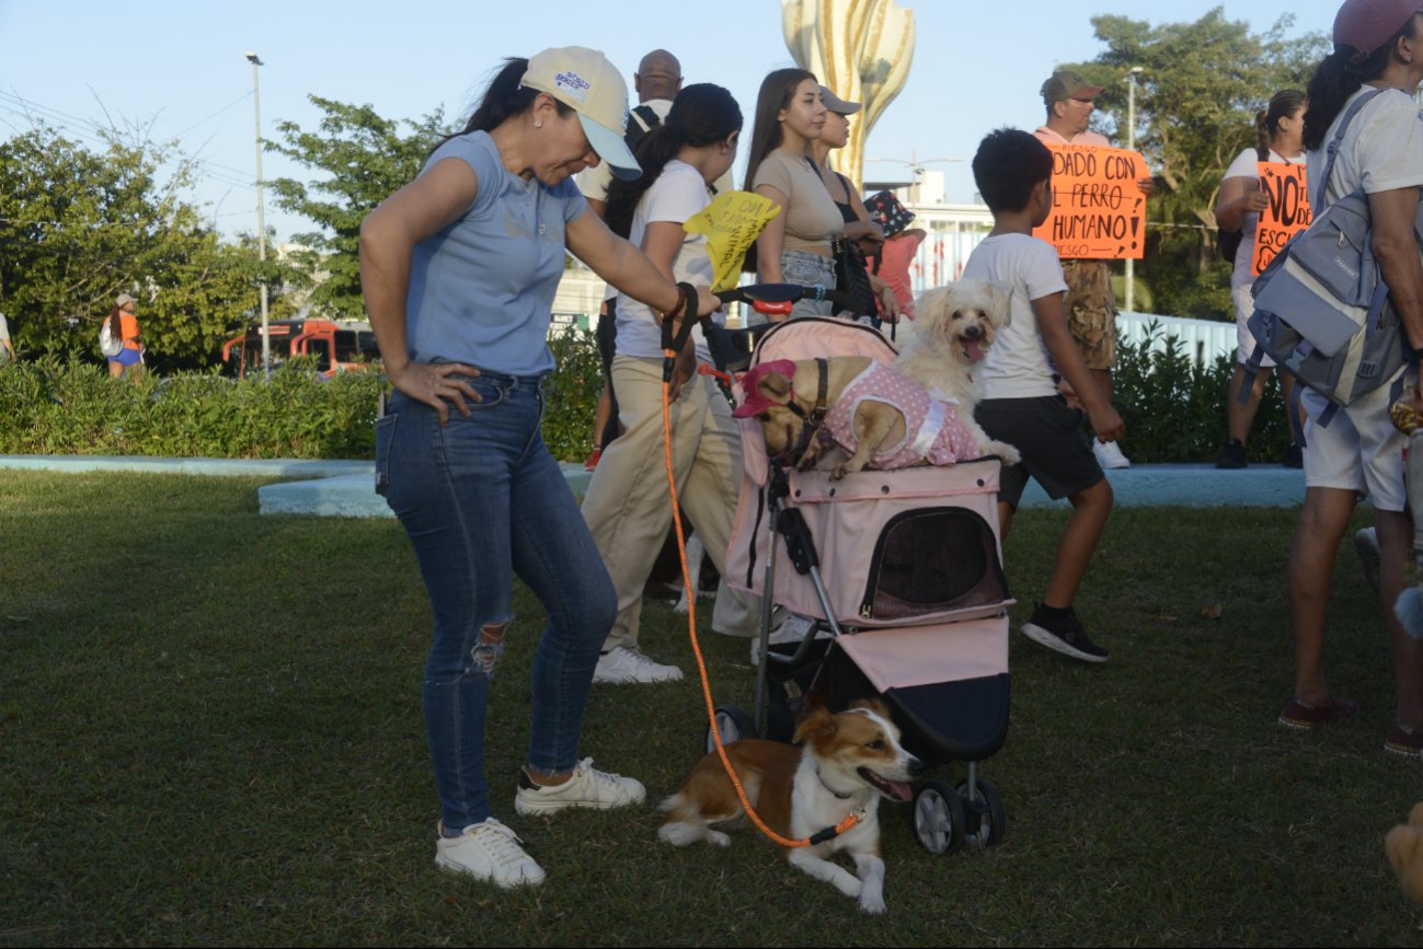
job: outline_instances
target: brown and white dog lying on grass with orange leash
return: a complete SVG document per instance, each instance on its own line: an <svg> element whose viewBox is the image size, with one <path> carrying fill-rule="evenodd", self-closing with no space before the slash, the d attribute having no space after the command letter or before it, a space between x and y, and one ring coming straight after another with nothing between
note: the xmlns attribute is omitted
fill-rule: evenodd
<svg viewBox="0 0 1423 949"><path fill-rule="evenodd" d="M899 744L899 730L879 701L831 714L813 710L795 728L795 743L747 738L726 746L746 797L761 821L788 839L807 839L852 812L864 817L840 837L811 847L781 848L785 861L815 879L855 896L869 913L885 911L885 864L879 857L879 798L909 801L906 781L924 764ZM682 790L662 802L667 817L657 837L675 847L731 838L713 824L744 815L731 780L713 753L702 758ZM855 872L830 861L844 852Z"/></svg>

